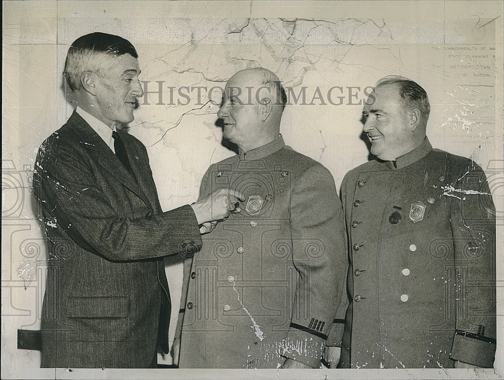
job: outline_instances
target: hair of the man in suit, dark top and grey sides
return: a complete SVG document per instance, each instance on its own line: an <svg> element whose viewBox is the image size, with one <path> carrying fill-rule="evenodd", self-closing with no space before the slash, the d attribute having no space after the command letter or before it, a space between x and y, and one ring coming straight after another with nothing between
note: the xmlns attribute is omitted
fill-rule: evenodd
<svg viewBox="0 0 504 380"><path fill-rule="evenodd" d="M113 34L95 32L77 38L70 46L65 61L65 77L72 91L80 89L81 75L86 71L100 71L100 54L119 56L130 54L138 58L130 41Z"/></svg>

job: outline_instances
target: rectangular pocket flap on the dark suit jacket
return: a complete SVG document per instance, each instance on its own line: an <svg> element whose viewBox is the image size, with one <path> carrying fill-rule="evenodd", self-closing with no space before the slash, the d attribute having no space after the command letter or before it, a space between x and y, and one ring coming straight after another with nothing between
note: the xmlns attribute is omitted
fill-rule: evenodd
<svg viewBox="0 0 504 380"><path fill-rule="evenodd" d="M125 318L130 313L129 297L70 297L68 318Z"/></svg>

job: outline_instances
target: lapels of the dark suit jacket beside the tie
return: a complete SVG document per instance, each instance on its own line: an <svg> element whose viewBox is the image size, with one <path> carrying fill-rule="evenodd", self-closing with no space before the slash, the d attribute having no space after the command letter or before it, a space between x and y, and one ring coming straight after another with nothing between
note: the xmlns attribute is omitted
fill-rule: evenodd
<svg viewBox="0 0 504 380"><path fill-rule="evenodd" d="M72 126L76 134L79 136L79 142L93 152L92 154L95 155L98 163L115 178L117 178L124 186L128 187L133 193L141 198L142 201L144 201L144 203L149 207L151 212L154 212L149 199L140 188L140 185L137 181L135 181L130 172L124 168L112 150L107 144L105 144L91 126L75 111L72 116L70 116L67 123ZM134 174L137 178L142 178L142 174L136 163L137 160L135 159L135 155L131 154L130 147L126 146L126 150L128 152L132 168L134 168Z"/></svg>

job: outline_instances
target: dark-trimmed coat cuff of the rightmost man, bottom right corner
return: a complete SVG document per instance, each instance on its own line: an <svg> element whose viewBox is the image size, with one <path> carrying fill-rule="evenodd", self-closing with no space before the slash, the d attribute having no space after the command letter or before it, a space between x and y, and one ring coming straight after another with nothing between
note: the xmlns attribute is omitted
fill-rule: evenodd
<svg viewBox="0 0 504 380"><path fill-rule="evenodd" d="M457 330L453 338L450 358L482 368L492 368L497 341Z"/></svg>

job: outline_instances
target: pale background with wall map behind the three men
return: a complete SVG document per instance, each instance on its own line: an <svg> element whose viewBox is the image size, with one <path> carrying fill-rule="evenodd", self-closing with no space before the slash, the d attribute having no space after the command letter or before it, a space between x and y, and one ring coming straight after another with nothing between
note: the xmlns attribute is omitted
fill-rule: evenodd
<svg viewBox="0 0 504 380"><path fill-rule="evenodd" d="M501 2L7 1L3 6L2 377L502 378ZM360 121L365 88L387 75L419 83L431 104L427 136L432 146L481 165L496 206L495 373L443 368L69 371L40 369L38 351L17 350L17 329L40 328L45 289L45 238L31 189L34 160L43 140L73 111L62 82L68 48L96 31L127 38L139 53L145 95L129 133L147 147L163 210L196 201L208 166L234 154L221 144L216 113L218 88L238 70L267 68L292 90L293 104L285 108L281 124L286 144L325 165L338 190L345 173L368 160ZM179 258L166 259L166 273L173 338ZM171 364L171 357L159 356L158 362Z"/></svg>

